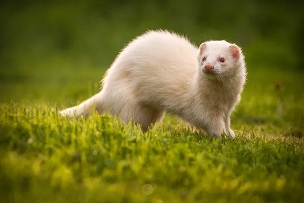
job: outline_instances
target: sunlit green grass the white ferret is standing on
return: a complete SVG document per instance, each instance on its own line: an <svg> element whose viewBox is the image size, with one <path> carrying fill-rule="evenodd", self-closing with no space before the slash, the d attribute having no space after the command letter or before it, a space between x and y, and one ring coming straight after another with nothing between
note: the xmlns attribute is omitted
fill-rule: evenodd
<svg viewBox="0 0 304 203"><path fill-rule="evenodd" d="M220 141L172 115L147 133L62 119L104 69L47 70L1 75L1 202L304 202L303 73L249 69Z"/></svg>

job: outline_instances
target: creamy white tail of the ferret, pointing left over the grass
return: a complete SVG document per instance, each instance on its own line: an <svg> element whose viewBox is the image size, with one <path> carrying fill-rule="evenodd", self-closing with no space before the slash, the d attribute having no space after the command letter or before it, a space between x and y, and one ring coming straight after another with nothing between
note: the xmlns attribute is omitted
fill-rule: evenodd
<svg viewBox="0 0 304 203"><path fill-rule="evenodd" d="M68 116L69 118L74 118L75 116L75 118L79 118L81 116L88 117L90 114L95 113L95 111L97 111L98 114L101 114L104 111L102 92L88 98L78 106L64 109L59 113L63 117Z"/></svg>

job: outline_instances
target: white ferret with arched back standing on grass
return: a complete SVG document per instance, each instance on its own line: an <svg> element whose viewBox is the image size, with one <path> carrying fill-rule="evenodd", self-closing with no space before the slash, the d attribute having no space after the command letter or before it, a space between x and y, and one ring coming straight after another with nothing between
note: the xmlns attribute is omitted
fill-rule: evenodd
<svg viewBox="0 0 304 203"><path fill-rule="evenodd" d="M132 119L143 131L165 112L204 129L209 136L231 134L230 115L246 81L242 50L226 41L196 47L166 30L147 31L130 42L102 79L99 93L62 110L70 118L99 114Z"/></svg>

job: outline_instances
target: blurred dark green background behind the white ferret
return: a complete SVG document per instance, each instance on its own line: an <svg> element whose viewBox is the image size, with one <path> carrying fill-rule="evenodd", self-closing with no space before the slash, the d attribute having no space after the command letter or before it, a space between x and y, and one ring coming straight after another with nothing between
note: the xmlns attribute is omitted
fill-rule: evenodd
<svg viewBox="0 0 304 203"><path fill-rule="evenodd" d="M98 91L118 52L147 29L169 29L196 45L234 42L255 77L256 70L296 75L304 69L303 5L286 0L7 1L0 9L0 102L70 104L86 98L88 90ZM61 89L65 86L68 93Z"/></svg>

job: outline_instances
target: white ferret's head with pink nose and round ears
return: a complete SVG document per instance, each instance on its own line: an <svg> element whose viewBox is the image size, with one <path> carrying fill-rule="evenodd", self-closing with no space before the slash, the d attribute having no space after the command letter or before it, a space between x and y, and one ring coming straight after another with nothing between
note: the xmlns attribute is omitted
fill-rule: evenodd
<svg viewBox="0 0 304 203"><path fill-rule="evenodd" d="M242 50L226 41L209 41L200 45L199 69L209 78L231 76L242 68Z"/></svg>

